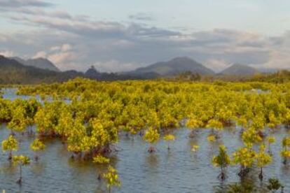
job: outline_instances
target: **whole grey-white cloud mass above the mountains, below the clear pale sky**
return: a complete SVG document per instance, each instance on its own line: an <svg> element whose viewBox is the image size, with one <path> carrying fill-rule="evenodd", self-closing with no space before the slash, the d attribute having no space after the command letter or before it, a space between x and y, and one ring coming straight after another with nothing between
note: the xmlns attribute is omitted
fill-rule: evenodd
<svg viewBox="0 0 290 193"><path fill-rule="evenodd" d="M184 34L141 24L137 16L142 14L130 15L132 23L122 23L39 7L7 11L6 20L32 30L0 34L0 50L12 50L20 57L48 57L63 70L85 71L95 65L100 71L127 71L184 55L215 71L233 63L290 67L290 32L275 37L232 29Z"/></svg>

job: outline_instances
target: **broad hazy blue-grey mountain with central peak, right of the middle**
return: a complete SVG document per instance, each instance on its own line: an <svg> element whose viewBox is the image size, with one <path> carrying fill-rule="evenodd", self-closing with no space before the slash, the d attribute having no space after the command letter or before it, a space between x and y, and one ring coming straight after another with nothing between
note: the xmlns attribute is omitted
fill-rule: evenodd
<svg viewBox="0 0 290 193"><path fill-rule="evenodd" d="M201 75L213 75L214 71L188 57L177 57L168 62L158 62L129 72L130 74L156 73L160 76L174 76L190 71Z"/></svg>

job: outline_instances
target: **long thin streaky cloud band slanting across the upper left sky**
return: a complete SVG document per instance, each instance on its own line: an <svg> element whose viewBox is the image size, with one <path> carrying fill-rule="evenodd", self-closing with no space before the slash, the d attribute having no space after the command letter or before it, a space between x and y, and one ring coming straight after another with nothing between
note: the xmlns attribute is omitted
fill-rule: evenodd
<svg viewBox="0 0 290 193"><path fill-rule="evenodd" d="M63 20L61 18L55 18L54 20L51 20L49 17L29 17L27 15L13 15L9 17L9 19L13 22L65 31L67 33L76 34L78 36L84 36L86 38L165 38L166 36L176 36L180 34L178 31L160 29L157 27L146 27L142 24L136 23L125 25L118 22L83 22L74 19Z"/></svg>

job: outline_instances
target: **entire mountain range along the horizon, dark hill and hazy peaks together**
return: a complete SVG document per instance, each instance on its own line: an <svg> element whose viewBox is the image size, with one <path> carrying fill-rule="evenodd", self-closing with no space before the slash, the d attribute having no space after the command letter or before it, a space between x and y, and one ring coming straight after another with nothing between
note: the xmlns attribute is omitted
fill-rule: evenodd
<svg viewBox="0 0 290 193"><path fill-rule="evenodd" d="M4 57L0 55L0 84L32 84L62 82L71 78L83 77L95 80L131 80L168 78L182 73L192 73L201 76L251 76L259 71L251 66L233 64L214 73L211 69L195 62L188 57L176 57L167 62L157 62L146 67L122 73L102 73L91 66L88 71L60 71L48 59L21 59L19 57Z"/></svg>

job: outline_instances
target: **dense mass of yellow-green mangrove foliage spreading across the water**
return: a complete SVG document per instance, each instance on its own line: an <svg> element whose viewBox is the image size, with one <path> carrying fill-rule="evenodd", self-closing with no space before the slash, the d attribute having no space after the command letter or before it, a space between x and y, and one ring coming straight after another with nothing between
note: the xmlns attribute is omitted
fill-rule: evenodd
<svg viewBox="0 0 290 193"><path fill-rule="evenodd" d="M290 124L290 83L99 82L76 78L66 83L24 86L19 94L39 94L43 99L53 100L39 104L33 100L0 99L1 122L20 132L36 124L37 136L60 138L67 150L83 157L88 155L95 162L106 162L103 156L113 150L119 134L144 134L144 141L156 143L160 134L186 125L189 129L219 131L221 135L214 131L207 137L214 142L222 136L224 127L237 124L242 127L243 145L233 154L233 164L262 167L270 164L270 158L263 146L258 152L254 148L268 143L270 149L275 140L265 138L268 127L272 130ZM240 132L238 127L233 128L235 134ZM174 139L172 135L163 137L165 141ZM17 141L12 141L4 141L3 150L17 150ZM285 137L281 150L284 158L290 157L289 144L289 137ZM32 146L32 150L42 149L37 143ZM198 146L193 150L197 151ZM226 150L219 151L214 163L228 166ZM99 157L92 158L94 155ZM226 157L222 159L225 165L219 157Z"/></svg>

